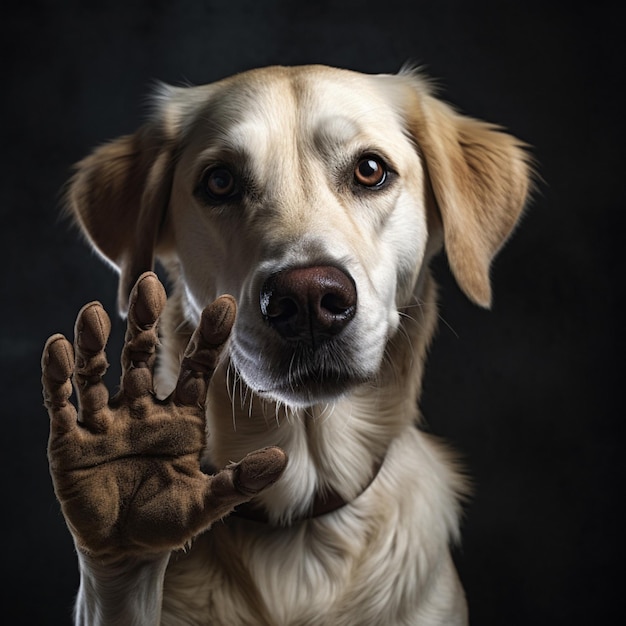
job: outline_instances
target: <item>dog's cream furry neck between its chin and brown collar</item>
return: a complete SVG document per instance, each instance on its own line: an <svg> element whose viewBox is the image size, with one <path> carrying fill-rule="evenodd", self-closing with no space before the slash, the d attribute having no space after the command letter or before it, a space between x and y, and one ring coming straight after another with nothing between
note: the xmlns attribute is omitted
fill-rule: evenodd
<svg viewBox="0 0 626 626"><path fill-rule="evenodd" d="M285 474L256 499L275 524L306 517L325 494L346 502L358 497L391 442L419 419L422 369L437 319L435 292L427 275L419 299L401 312L376 379L332 404L293 409L268 402L253 394L225 359L209 387L205 461L223 467L264 446L283 448L289 456ZM193 330L184 311L177 290L161 326L160 373L170 387Z"/></svg>

